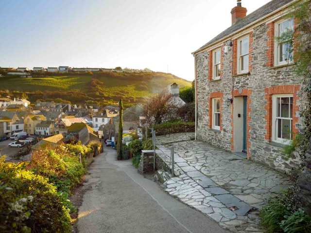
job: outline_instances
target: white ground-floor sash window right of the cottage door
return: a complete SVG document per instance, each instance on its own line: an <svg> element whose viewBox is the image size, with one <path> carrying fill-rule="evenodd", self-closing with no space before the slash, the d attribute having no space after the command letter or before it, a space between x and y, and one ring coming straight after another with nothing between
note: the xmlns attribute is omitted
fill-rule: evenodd
<svg viewBox="0 0 311 233"><path fill-rule="evenodd" d="M293 95L272 96L272 141L289 144L292 140Z"/></svg>

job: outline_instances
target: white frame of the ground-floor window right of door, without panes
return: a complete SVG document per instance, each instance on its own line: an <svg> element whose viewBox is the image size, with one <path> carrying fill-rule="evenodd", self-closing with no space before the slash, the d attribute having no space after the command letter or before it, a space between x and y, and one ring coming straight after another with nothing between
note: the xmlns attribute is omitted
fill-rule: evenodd
<svg viewBox="0 0 311 233"><path fill-rule="evenodd" d="M293 98L293 106L292 106L292 109L289 109L289 112L290 111L293 111L294 110L294 95L293 94L277 94L277 95L273 95L272 96L272 141L273 142L276 142L276 143L280 143L280 144L284 144L284 145L289 145L291 142L292 142L292 139L288 140L288 139L284 139L284 138L279 138L277 137L276 133L277 133L277 130L276 130L276 120L281 118L281 119L290 119L292 120L291 122L291 131L290 131L290 134L291 134L291 138L292 138L292 133L293 133L293 118L294 118L294 111L292 112L292 118L290 117L277 117L276 115L276 111L277 111L277 98L284 98L284 97L287 97L287 98Z"/></svg>

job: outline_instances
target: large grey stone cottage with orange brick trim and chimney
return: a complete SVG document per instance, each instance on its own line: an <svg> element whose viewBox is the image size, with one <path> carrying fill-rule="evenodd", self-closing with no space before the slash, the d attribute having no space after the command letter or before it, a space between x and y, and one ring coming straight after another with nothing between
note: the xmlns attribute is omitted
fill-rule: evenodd
<svg viewBox="0 0 311 233"><path fill-rule="evenodd" d="M298 164L281 154L299 131L303 89L292 44L276 38L294 30L285 17L293 2L272 0L247 16L238 2L232 26L192 53L196 137L283 171Z"/></svg>

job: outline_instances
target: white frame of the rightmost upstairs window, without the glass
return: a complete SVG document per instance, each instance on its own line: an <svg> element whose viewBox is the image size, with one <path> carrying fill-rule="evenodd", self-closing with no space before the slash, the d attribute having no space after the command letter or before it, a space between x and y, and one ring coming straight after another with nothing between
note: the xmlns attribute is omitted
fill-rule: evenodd
<svg viewBox="0 0 311 233"><path fill-rule="evenodd" d="M278 20L274 23L274 35L275 35L275 42L274 42L274 65L275 66L282 66L282 65L287 65L287 64L293 64L294 63L294 43L293 43L293 51L292 51L292 60L291 61L287 61L284 60L282 62L279 61L279 44L280 42L278 41L277 37L279 37L279 25L282 22L285 22L287 20L292 20L293 22L293 31L294 31L294 18L285 18L285 19L281 19ZM283 41L282 43L287 42L287 41Z"/></svg>

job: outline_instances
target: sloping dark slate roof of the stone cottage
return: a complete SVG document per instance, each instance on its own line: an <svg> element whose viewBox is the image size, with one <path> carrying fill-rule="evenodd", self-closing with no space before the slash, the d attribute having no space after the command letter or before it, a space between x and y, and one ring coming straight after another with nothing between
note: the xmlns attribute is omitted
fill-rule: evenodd
<svg viewBox="0 0 311 233"><path fill-rule="evenodd" d="M243 27L247 26L248 24L251 24L252 22L255 22L256 20L270 14L271 12L274 12L278 8L286 5L287 3L291 2L293 0L272 0L256 11L252 12L251 14L247 15L246 17L239 20L237 23L233 24L231 27L227 28L224 32L218 34L216 37L211 39L209 42L207 42L204 46L202 46L200 49L194 51L193 53L196 53L200 50L203 50L207 48L209 45L213 44L214 42L217 42L218 40L224 38L225 36L234 33L238 31L239 29L242 29Z"/></svg>

